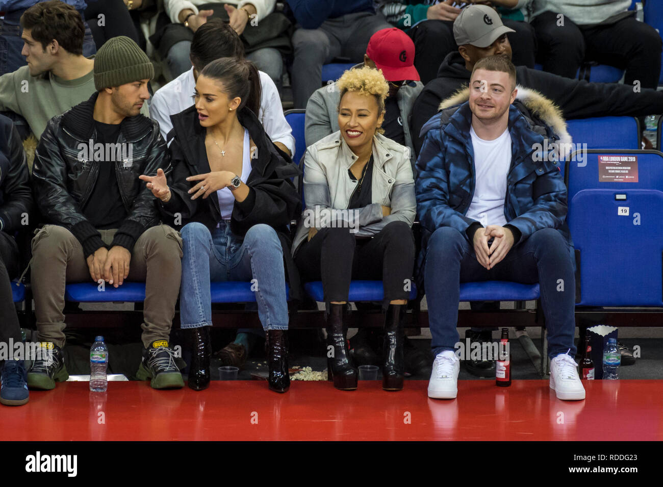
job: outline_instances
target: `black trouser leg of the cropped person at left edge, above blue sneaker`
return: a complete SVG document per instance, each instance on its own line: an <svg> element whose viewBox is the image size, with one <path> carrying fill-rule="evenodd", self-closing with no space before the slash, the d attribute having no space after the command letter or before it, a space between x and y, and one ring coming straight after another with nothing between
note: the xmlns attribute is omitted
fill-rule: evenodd
<svg viewBox="0 0 663 487"><path fill-rule="evenodd" d="M19 247L12 237L0 231L0 341L21 341L21 326L11 296L11 280L19 275Z"/></svg>

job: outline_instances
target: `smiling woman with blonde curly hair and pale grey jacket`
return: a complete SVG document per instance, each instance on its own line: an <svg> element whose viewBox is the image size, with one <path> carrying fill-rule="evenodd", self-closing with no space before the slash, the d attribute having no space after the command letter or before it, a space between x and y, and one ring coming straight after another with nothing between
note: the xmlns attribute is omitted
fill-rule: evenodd
<svg viewBox="0 0 663 487"><path fill-rule="evenodd" d="M409 151L381 135L389 93L381 71L346 71L337 89L340 130L309 146L304 156L306 209L293 254L304 280L322 280L327 345L333 347L328 373L338 389L357 388L343 323L350 281L383 280L383 388L401 390L402 317L414 266L416 212Z"/></svg>

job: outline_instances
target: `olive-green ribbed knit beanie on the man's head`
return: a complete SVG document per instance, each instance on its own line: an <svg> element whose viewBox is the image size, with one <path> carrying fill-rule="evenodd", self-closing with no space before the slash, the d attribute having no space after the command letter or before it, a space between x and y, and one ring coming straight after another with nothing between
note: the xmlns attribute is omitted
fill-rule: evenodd
<svg viewBox="0 0 663 487"><path fill-rule="evenodd" d="M97 91L152 78L154 66L150 58L129 37L111 37L94 58L94 87Z"/></svg>

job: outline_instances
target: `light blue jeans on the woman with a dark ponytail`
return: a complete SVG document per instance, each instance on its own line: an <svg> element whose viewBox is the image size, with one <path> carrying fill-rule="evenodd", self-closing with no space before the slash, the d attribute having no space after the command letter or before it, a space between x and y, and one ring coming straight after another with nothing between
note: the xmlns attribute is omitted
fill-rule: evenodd
<svg viewBox="0 0 663 487"><path fill-rule="evenodd" d="M211 281L251 281L257 286L258 316L266 330L288 329L283 250L276 231L254 225L242 239L221 221L211 233L202 223L182 231L180 323L184 328L211 326Z"/></svg>

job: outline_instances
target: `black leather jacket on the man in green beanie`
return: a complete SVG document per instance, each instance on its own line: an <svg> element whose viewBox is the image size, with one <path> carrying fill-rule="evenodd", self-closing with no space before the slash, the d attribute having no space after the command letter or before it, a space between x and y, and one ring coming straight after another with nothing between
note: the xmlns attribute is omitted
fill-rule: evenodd
<svg viewBox="0 0 663 487"><path fill-rule="evenodd" d="M90 160L87 150L90 140L94 143L97 138L92 118L97 95L50 119L34 152L32 168L35 199L46 223L71 231L86 257L105 246L82 213L99 176L100 163ZM122 121L117 143L127 144L125 147L131 144L131 159L115 161L127 218L111 246L120 245L131 252L137 239L156 225L159 217L152 192L138 177L153 176L158 168L170 172L170 158L158 123L143 115Z"/></svg>

